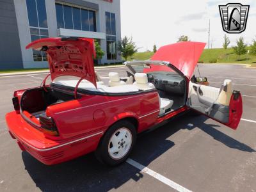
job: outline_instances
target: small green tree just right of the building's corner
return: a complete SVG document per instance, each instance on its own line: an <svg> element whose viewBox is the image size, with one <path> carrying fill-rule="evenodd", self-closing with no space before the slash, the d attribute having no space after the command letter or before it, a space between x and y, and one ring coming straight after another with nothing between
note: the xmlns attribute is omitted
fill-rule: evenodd
<svg viewBox="0 0 256 192"><path fill-rule="evenodd" d="M122 54L125 61L127 61L127 58L137 52L138 48L136 47L135 43L132 42L132 37L129 38L124 36L124 38L118 42L117 50Z"/></svg>

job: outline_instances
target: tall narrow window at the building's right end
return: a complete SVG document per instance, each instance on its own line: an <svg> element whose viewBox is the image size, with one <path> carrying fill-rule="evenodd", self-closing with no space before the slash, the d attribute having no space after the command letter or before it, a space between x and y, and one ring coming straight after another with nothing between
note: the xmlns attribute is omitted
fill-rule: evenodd
<svg viewBox="0 0 256 192"><path fill-rule="evenodd" d="M107 59L116 60L116 15L106 12Z"/></svg>

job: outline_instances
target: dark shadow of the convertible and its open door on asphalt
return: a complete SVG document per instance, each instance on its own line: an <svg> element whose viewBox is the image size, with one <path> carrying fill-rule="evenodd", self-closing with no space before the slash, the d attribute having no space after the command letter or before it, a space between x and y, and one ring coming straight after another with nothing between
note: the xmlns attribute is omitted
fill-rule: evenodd
<svg viewBox="0 0 256 192"><path fill-rule="evenodd" d="M207 118L204 116L184 115L159 129L142 134L139 136L131 156L139 157L136 158L136 161L143 162L142 164L147 166L175 145L168 138L184 127L191 131L195 127L199 127L211 135L214 140L220 141L227 147L244 152L255 152L248 145L215 129L214 127L218 127L218 125L205 124L205 120ZM194 125L188 127L188 124L191 123ZM53 166L40 163L27 152L22 152L22 159L31 179L42 191L109 191L119 188L129 180L138 181L144 177L140 170L127 163L117 167L104 166L96 160L94 154Z"/></svg>

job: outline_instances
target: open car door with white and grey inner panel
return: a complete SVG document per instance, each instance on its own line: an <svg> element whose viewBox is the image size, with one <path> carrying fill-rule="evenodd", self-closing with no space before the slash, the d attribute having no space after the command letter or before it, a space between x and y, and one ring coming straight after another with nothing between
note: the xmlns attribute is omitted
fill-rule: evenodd
<svg viewBox="0 0 256 192"><path fill-rule="evenodd" d="M221 88L190 81L187 105L232 129L237 129L243 113L241 94L233 90L228 79Z"/></svg>

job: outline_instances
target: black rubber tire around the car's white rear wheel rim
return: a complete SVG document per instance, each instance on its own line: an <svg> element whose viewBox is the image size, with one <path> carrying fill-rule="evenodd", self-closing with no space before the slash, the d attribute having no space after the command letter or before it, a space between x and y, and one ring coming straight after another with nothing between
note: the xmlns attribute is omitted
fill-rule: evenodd
<svg viewBox="0 0 256 192"><path fill-rule="evenodd" d="M120 159L113 159L109 155L109 150L108 150L109 141L113 136L113 134L122 127L129 129L129 131L131 132L131 136L132 136L131 147L129 148L129 150L127 151L124 157ZM99 143L97 150L95 151L95 156L101 163L108 164L109 166L116 166L120 163L123 163L131 153L132 148L136 143L136 138L137 138L137 132L134 124L132 124L128 120L120 120L119 122L116 122L111 127L109 127L108 131L104 134L102 140Z"/></svg>

